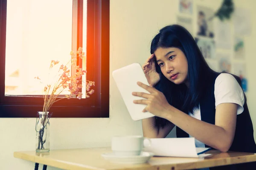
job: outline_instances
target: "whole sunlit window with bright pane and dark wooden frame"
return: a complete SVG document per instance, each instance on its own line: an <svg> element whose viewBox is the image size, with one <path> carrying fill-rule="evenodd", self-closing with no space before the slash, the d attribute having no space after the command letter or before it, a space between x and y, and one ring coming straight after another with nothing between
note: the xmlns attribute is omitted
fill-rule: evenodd
<svg viewBox="0 0 256 170"><path fill-rule="evenodd" d="M79 47L95 93L56 102L52 117L109 117L109 0L1 0L0 16L0 117L36 117L44 100L29 77L49 65L47 54L65 63L63 49Z"/></svg>

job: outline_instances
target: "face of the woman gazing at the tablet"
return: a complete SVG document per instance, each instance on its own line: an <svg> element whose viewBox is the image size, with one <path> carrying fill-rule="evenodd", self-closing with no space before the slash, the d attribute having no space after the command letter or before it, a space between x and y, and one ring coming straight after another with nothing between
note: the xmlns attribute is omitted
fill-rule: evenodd
<svg viewBox="0 0 256 170"><path fill-rule="evenodd" d="M163 75L176 85L187 85L188 62L179 48L157 48L154 52Z"/></svg>

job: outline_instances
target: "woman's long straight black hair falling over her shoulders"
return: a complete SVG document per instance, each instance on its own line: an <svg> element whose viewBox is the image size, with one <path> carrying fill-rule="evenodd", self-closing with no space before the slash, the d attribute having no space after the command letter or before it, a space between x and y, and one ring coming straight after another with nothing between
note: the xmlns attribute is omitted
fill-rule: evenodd
<svg viewBox="0 0 256 170"><path fill-rule="evenodd" d="M215 73L209 68L194 38L185 28L179 25L170 25L162 28L151 42L151 54L157 48L179 48L186 56L188 62L188 86L184 83L176 85L169 81L156 64L156 70L160 74L160 82L155 88L163 92L170 105L185 112L193 113L198 108L201 96L207 89L207 84ZM156 126L164 127L169 121L156 117Z"/></svg>

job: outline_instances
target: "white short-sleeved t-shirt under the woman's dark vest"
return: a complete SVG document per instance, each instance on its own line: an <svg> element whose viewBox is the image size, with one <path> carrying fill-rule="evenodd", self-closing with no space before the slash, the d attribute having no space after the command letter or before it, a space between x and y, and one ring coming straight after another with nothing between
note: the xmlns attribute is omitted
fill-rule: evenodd
<svg viewBox="0 0 256 170"><path fill-rule="evenodd" d="M236 103L239 105L237 114L244 111L244 93L235 77L231 74L221 73L215 80L214 85L215 108L221 103ZM190 116L201 120L200 106ZM189 137L192 137L189 135ZM195 139L195 147L205 147L204 143Z"/></svg>

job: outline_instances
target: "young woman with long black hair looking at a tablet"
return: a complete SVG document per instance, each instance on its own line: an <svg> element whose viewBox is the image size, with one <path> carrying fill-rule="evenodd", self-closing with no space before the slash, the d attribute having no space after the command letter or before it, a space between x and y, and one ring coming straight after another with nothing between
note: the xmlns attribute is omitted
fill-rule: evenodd
<svg viewBox="0 0 256 170"><path fill-rule="evenodd" d="M196 147L256 153L241 80L209 68L185 28L162 28L143 70L150 86L138 85L150 94L133 92L145 98L134 103L155 115L142 120L144 136L165 138L176 125L177 137L195 137Z"/></svg>

